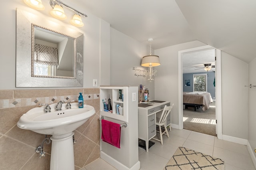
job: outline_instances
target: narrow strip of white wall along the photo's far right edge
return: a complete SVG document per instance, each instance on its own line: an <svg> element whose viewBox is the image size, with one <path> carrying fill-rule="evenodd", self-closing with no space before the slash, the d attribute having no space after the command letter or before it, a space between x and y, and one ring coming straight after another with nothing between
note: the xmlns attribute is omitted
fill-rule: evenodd
<svg viewBox="0 0 256 170"><path fill-rule="evenodd" d="M256 59L251 61L249 63L249 81L248 84L256 85ZM252 147L252 150L256 148L256 87L252 87L251 89L248 88L249 91L249 114L248 114L248 140L250 142L250 146ZM254 153L256 156L256 153Z"/></svg>

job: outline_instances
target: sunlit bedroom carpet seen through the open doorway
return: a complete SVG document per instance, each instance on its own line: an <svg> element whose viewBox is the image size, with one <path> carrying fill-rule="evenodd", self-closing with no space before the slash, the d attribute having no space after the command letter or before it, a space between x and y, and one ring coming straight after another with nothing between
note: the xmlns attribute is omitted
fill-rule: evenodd
<svg viewBox="0 0 256 170"><path fill-rule="evenodd" d="M206 111L202 111L202 107L196 109L196 111L193 107L183 109L183 128L217 136L215 114L215 101L210 103L210 108Z"/></svg>

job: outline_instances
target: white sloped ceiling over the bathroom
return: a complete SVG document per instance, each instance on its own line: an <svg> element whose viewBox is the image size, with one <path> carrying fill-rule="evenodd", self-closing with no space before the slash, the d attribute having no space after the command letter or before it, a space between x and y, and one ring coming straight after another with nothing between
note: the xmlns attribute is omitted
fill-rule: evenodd
<svg viewBox="0 0 256 170"><path fill-rule="evenodd" d="M110 26L159 49L198 40L249 63L256 55L255 0L73 0ZM90 17L90 16L88 16Z"/></svg>

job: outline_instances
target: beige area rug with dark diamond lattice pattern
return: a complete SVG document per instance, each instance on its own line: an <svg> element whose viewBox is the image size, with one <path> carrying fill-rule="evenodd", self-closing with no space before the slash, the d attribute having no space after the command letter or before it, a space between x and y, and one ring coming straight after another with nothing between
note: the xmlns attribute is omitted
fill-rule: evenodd
<svg viewBox="0 0 256 170"><path fill-rule="evenodd" d="M224 170L220 158L179 146L164 170Z"/></svg>

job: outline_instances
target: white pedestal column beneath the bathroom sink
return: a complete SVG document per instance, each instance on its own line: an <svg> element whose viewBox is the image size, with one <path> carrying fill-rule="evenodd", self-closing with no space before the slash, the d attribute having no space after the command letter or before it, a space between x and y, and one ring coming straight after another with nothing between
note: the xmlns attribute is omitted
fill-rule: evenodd
<svg viewBox="0 0 256 170"><path fill-rule="evenodd" d="M74 170L74 132L53 134L50 170Z"/></svg>

